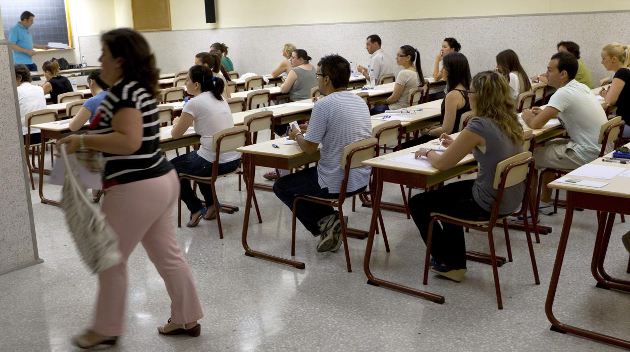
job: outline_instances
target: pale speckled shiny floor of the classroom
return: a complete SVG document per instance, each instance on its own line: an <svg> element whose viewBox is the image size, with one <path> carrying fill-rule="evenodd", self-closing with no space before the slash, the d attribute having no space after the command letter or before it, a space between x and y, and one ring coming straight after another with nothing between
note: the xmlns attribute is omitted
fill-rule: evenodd
<svg viewBox="0 0 630 352"><path fill-rule="evenodd" d="M259 170L259 178L260 172ZM37 179L37 178L36 178ZM353 272L345 270L343 251L316 253L316 239L298 225L297 270L243 255L241 229L245 192L237 178L221 182L219 198L241 206L223 215L225 239L214 221L177 229L205 313L200 338L158 336L168 319L169 300L142 247L129 261L127 331L112 350L120 351L607 351L614 348L549 331L544 300L564 218L542 217L553 233L534 244L541 285L534 285L524 233L510 232L513 263L499 269L503 310L496 309L490 266L469 263L462 283L431 276L423 287L445 296L444 305L366 284L362 270L365 241L349 239ZM47 186L51 198L58 186ZM290 212L272 193L258 191L263 224L250 222L250 245L280 256L290 254ZM386 198L399 201L397 186ZM77 256L60 208L42 205L31 192L43 264L0 276L0 349L68 351L73 334L88 327L93 314L96 277ZM5 205L6 206L6 205ZM367 229L370 210L357 207L349 225ZM174 206L174 210L176 207ZM188 213L184 214L188 217ZM422 287L425 246L413 221L384 212L392 252L377 237L372 270L387 280ZM630 296L595 288L590 256L595 213L577 213L564 261L556 315L564 322L630 339ZM606 266L627 278L628 254L620 236L629 225L617 220ZM496 236L505 255L505 242ZM486 237L471 232L467 247L487 250Z"/></svg>

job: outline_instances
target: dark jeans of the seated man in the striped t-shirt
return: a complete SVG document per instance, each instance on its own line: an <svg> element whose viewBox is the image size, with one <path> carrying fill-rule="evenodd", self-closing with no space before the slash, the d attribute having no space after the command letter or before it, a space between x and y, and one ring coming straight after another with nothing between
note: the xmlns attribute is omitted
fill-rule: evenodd
<svg viewBox="0 0 630 352"><path fill-rule="evenodd" d="M365 186L367 187L367 185ZM365 187L348 192L348 196L357 195L365 190ZM321 198L339 198L339 193L328 193L328 188L321 188L318 183L317 167L309 167L278 178L273 184L273 192L285 203L289 209L293 209L293 201L298 195L317 196ZM295 210L297 219L313 236L319 236L318 221L335 213L335 209L329 205L319 203L297 202Z"/></svg>

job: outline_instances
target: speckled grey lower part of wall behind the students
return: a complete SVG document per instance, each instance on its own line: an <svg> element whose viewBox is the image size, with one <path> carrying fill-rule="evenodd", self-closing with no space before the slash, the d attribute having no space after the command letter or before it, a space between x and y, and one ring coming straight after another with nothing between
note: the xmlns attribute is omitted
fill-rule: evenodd
<svg viewBox="0 0 630 352"><path fill-rule="evenodd" d="M512 48L529 76L546 70L556 43L572 40L580 45L581 59L597 82L611 74L600 64L605 43L630 43L630 12L159 31L144 35L163 72L186 69L193 64L195 54L209 50L214 42L224 42L236 71L266 74L282 60L284 43L304 48L315 63L324 54L338 53L367 64L365 37L373 33L381 36L383 48L392 58L401 45L418 48L425 76L432 74L433 60L445 37L455 37L462 43L462 53L468 57L473 74L493 69L495 55ZM98 36L79 37L79 48L88 62L95 61L100 55Z"/></svg>

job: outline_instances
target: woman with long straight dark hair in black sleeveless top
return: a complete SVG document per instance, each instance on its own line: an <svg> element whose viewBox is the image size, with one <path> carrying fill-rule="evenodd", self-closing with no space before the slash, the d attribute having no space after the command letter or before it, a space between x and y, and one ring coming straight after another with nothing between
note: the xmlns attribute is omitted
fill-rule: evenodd
<svg viewBox="0 0 630 352"><path fill-rule="evenodd" d="M447 54L442 62L444 63L442 77L447 81L446 86L450 89L440 106L442 125L423 128L420 130L420 137L404 142L401 149L426 143L440 137L442 133L457 132L462 114L471 110L467 94L471 82L471 70L466 56L459 52L452 52Z"/></svg>

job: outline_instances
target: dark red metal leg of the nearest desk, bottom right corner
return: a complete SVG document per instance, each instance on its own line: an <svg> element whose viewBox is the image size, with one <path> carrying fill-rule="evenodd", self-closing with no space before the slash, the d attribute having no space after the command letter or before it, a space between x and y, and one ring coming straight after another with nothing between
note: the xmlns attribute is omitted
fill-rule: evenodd
<svg viewBox="0 0 630 352"><path fill-rule="evenodd" d="M567 194L567 207L566 214L564 215L564 224L562 232L560 234L560 242L558 244L558 252L556 253L556 260L554 262L553 271L551 273L551 281L549 281L549 291L547 292L547 299L545 301L545 314L547 319L551 322L551 330L557 332L568 332L582 336L587 339L592 339L602 343L612 344L621 348L630 349L630 341L614 338L597 332L580 329L579 327L563 324L558 321L553 314L553 302L556 297L556 290L558 289L558 281L560 278L560 271L562 269L562 263L564 260L564 253L566 251L566 244L569 239L569 231L571 230L571 222L573 221L573 192ZM597 246L597 244L596 244Z"/></svg>

